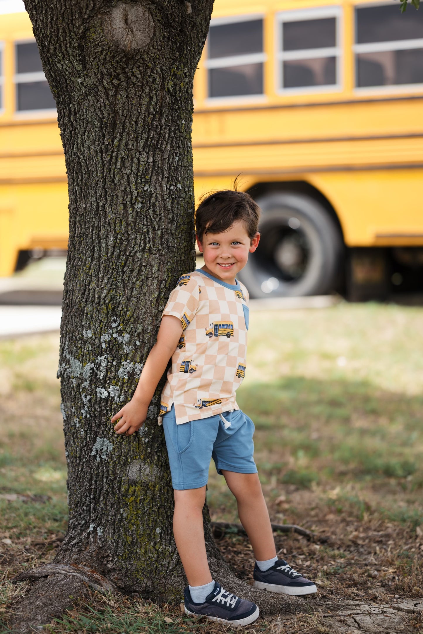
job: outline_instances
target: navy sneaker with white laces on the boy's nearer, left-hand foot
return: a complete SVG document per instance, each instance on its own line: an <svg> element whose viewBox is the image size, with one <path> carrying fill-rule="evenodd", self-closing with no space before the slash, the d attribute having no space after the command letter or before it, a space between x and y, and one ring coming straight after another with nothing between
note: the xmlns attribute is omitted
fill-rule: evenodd
<svg viewBox="0 0 423 634"><path fill-rule="evenodd" d="M207 616L211 621L231 625L249 625L259 616L259 609L255 603L226 592L217 581L204 603L193 602L189 587L185 588L184 595L185 614Z"/></svg>

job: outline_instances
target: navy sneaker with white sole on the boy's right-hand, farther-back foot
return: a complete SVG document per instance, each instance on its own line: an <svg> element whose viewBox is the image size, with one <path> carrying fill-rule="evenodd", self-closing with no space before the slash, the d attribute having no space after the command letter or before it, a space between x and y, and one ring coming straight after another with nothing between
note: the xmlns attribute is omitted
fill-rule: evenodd
<svg viewBox="0 0 423 634"><path fill-rule="evenodd" d="M268 590L268 592L282 592L283 594L301 595L313 594L317 592L317 588L313 581L304 579L303 575L293 570L284 559L278 559L264 573L259 567L254 566L254 585L259 590Z"/></svg>

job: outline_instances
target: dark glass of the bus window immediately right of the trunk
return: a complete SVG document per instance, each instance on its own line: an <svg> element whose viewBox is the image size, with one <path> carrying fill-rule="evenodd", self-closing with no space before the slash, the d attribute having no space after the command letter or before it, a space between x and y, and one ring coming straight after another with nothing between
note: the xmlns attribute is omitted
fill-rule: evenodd
<svg viewBox="0 0 423 634"><path fill-rule="evenodd" d="M263 19L212 20L207 38L208 96L263 94Z"/></svg>

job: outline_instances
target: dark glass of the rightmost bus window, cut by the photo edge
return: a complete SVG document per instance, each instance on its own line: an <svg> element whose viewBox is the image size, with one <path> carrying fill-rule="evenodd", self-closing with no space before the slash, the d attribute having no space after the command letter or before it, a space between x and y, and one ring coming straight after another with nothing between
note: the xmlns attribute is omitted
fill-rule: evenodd
<svg viewBox="0 0 423 634"><path fill-rule="evenodd" d="M423 15L356 7L356 87L423 84Z"/></svg>

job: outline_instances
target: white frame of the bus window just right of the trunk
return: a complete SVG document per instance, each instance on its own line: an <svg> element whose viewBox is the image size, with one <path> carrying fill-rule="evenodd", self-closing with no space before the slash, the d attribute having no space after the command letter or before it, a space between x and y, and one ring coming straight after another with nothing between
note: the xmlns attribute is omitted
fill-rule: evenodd
<svg viewBox="0 0 423 634"><path fill-rule="evenodd" d="M268 61L268 55L266 53L266 42L264 41L265 29L264 20L266 15L264 13L242 13L241 15L228 15L220 18L212 18L210 21L210 27L216 27L224 24L237 24L239 22L252 22L253 20L262 20L263 22L263 51L261 53L245 53L245 55L233 55L226 57L209 58L209 36L205 41L205 98L204 103L206 105L219 105L219 104L238 104L238 103L261 103L267 101L268 97L265 93L265 67L264 64ZM209 27L209 28L210 28ZM245 59L247 58L247 59ZM223 65L219 62L225 61ZM226 97L211 97L209 96L209 70L212 68L225 68L229 66L243 66L247 64L263 64L263 93L256 94L238 94Z"/></svg>

